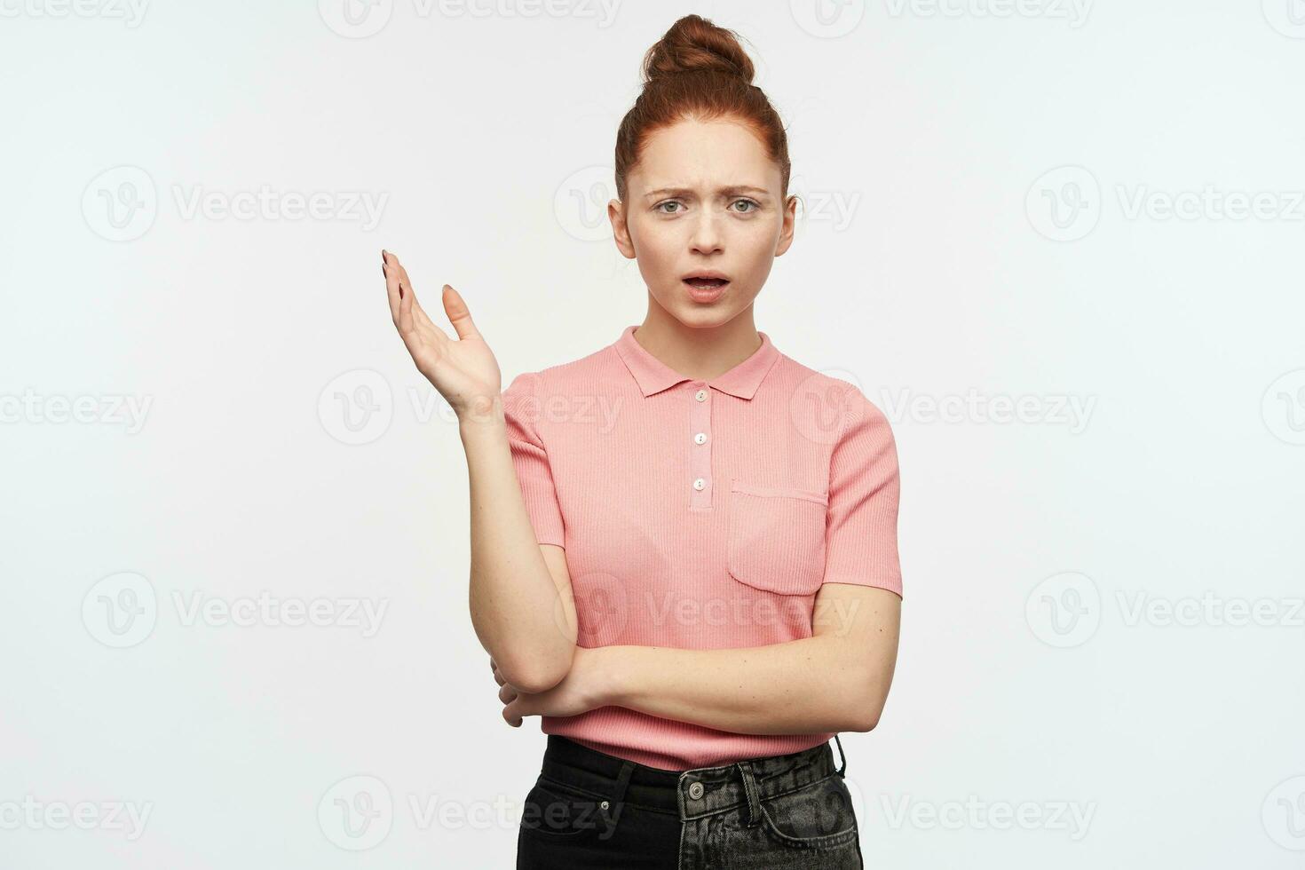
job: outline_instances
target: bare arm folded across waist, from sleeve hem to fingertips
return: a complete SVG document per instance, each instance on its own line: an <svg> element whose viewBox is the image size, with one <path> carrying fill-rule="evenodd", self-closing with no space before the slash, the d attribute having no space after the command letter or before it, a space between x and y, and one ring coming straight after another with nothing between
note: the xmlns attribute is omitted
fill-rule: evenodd
<svg viewBox="0 0 1305 870"><path fill-rule="evenodd" d="M743 734L865 732L893 681L900 604L889 590L826 583L810 638L733 650L576 647L570 670L542 693L491 667L513 727L615 706Z"/></svg>

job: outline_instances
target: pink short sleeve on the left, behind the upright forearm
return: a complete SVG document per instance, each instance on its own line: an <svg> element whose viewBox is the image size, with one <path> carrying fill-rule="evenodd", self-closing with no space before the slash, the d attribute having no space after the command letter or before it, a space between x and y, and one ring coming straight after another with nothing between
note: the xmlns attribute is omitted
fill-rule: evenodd
<svg viewBox="0 0 1305 870"><path fill-rule="evenodd" d="M518 374L502 393L502 415L508 424L508 446L526 513L540 544L565 547L562 511L557 503L548 453L539 437L540 402L538 372Z"/></svg>

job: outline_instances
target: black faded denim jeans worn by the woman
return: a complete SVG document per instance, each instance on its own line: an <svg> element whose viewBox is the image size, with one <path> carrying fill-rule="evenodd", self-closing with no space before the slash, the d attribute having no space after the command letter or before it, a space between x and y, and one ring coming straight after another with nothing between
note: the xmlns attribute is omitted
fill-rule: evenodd
<svg viewBox="0 0 1305 870"><path fill-rule="evenodd" d="M667 771L548 736L526 796L517 870L863 867L843 766L821 743Z"/></svg>

